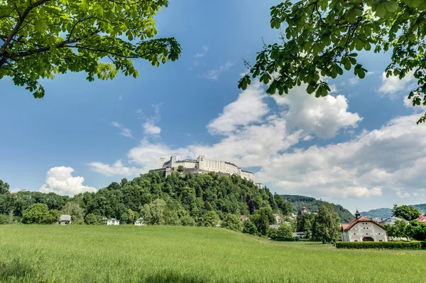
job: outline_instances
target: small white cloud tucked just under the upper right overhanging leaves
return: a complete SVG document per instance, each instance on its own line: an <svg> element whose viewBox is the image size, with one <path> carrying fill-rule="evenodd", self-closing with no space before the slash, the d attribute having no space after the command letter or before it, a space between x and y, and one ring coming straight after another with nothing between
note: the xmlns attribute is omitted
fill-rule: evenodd
<svg viewBox="0 0 426 283"><path fill-rule="evenodd" d="M378 92L381 95L388 95L391 98L395 98L398 95L408 95L408 93L413 90L416 85L414 78L414 71L411 71L404 78L400 80L398 76L391 75L389 78L386 78L386 73L382 73L381 78L381 87L378 89Z"/></svg>

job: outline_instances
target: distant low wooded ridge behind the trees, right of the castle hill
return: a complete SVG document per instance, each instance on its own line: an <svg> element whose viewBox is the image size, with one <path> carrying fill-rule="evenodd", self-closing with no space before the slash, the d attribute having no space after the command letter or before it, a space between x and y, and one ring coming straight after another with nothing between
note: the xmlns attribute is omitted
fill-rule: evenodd
<svg viewBox="0 0 426 283"><path fill-rule="evenodd" d="M302 206L305 205L308 212L311 213L317 213L320 209L320 206L322 203L325 203L325 201L319 201L316 198L311 198L310 196L296 196L296 195L281 195L283 196L285 201L289 201L293 205L293 210L297 212L298 210L302 210ZM348 223L352 219L355 218L352 213L344 208L342 205L334 204L333 210L339 213L340 220L342 220L343 223Z"/></svg>

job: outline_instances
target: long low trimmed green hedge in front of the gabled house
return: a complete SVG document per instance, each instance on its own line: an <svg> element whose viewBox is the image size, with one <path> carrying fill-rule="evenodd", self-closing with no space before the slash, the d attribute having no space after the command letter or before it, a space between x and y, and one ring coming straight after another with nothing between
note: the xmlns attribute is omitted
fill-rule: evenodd
<svg viewBox="0 0 426 283"><path fill-rule="evenodd" d="M422 242L337 242L338 249L421 250Z"/></svg>

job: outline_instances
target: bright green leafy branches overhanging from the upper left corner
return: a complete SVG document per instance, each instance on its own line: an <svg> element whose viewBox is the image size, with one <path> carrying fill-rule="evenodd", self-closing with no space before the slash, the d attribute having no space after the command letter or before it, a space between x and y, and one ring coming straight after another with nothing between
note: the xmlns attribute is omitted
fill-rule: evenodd
<svg viewBox="0 0 426 283"><path fill-rule="evenodd" d="M12 77L41 98L38 80L56 73L136 78L132 59L158 66L180 55L175 38L152 39L154 16L167 6L168 0L0 1L0 79Z"/></svg>

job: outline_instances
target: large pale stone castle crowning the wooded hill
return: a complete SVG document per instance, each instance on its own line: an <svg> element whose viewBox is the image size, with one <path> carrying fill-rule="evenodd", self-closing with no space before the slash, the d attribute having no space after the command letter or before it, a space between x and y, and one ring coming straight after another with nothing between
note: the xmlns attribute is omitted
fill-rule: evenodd
<svg viewBox="0 0 426 283"><path fill-rule="evenodd" d="M176 156L171 156L169 161L163 164L160 169L154 169L151 171L162 171L165 176L168 176L172 171L177 171L179 166L183 166L185 173L222 173L226 175L238 175L241 178L246 178L254 182L254 173L243 170L228 161L215 161L206 159L204 155L200 155L197 159L184 159L177 160ZM261 183L256 183L259 188L262 187Z"/></svg>

